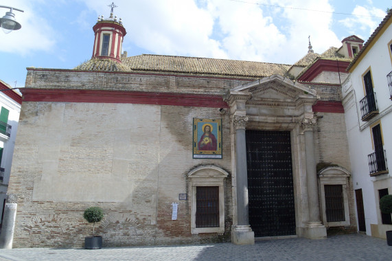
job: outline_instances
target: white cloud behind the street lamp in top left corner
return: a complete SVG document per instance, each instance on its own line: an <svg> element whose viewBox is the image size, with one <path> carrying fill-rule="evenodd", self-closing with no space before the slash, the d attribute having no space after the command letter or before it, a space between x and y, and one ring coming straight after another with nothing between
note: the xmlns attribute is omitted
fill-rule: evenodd
<svg viewBox="0 0 392 261"><path fill-rule="evenodd" d="M25 56L34 51L51 52L56 41L54 40L54 30L50 23L43 18L36 10L34 3L42 3L42 0L0 0L0 5L19 8L24 12L14 11L15 19L21 23L22 28L9 34L1 34L0 50ZM1 8L2 12L8 12ZM1 14L3 16L3 14Z"/></svg>

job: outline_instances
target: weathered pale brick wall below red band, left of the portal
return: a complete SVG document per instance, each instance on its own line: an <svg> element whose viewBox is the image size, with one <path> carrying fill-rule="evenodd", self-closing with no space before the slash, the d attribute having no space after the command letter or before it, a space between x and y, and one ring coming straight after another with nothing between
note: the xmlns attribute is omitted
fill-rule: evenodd
<svg viewBox="0 0 392 261"><path fill-rule="evenodd" d="M222 118L223 159L192 159L194 117ZM23 102L9 188L19 196L14 247L82 247L91 205L104 209L104 247L229 241L231 177L222 235L191 235L187 179L203 164L231 172L229 126L216 108Z"/></svg>

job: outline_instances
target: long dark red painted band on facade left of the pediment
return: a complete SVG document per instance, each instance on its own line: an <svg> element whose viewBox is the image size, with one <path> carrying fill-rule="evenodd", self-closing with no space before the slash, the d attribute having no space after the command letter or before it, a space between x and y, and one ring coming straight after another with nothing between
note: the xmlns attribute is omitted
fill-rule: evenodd
<svg viewBox="0 0 392 261"><path fill-rule="evenodd" d="M23 102L97 102L229 108L220 95L23 88Z"/></svg>

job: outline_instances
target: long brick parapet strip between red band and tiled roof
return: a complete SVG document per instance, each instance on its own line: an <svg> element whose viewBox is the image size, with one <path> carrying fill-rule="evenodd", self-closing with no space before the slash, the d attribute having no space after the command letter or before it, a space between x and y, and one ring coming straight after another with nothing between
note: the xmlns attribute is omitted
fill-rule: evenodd
<svg viewBox="0 0 392 261"><path fill-rule="evenodd" d="M26 88L83 89L105 91L152 91L163 93L224 94L252 80L203 76L172 76L158 73L105 73L65 69L27 68Z"/></svg>

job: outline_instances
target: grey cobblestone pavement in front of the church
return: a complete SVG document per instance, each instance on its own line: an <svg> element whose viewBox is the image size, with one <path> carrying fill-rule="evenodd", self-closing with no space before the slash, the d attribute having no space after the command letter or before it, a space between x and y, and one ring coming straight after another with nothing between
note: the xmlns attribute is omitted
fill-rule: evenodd
<svg viewBox="0 0 392 261"><path fill-rule="evenodd" d="M0 260L366 260L391 261L386 240L364 235L330 236L325 240L289 238L231 243L103 249L0 249Z"/></svg>

